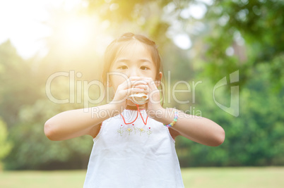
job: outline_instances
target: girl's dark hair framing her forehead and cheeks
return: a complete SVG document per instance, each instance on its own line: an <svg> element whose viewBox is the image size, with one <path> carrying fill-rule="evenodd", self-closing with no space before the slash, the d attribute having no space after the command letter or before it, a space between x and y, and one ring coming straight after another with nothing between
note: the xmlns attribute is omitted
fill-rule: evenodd
<svg viewBox="0 0 284 188"><path fill-rule="evenodd" d="M153 63L155 63L155 67L156 67L155 81L162 82L163 77L162 77L162 80L160 80L159 73L162 72L162 75L164 74L162 70L160 54L159 54L158 47L155 44L155 42L153 42L152 40L148 39L147 37L143 35L134 35L131 32L127 32L127 33L124 33L124 35L122 35L121 37L114 39L114 41L112 41L110 45L107 46L107 49L105 50L105 62L102 68L102 82L103 84L105 84L105 86L107 85L106 83L107 73L110 71L110 67L113 61L115 60L115 58L117 58L117 55L122 51L124 46L134 41L141 42L142 44L146 46L146 48L151 54ZM162 87L162 83L159 84L160 87ZM163 88L162 88L162 97L163 97Z"/></svg>

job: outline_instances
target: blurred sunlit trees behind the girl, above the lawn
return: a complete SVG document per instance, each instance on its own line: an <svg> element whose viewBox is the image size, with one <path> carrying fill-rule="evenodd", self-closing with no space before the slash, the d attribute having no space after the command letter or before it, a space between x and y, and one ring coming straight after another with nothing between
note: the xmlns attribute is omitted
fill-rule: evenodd
<svg viewBox="0 0 284 188"><path fill-rule="evenodd" d="M88 83L100 79L107 44L124 32L147 35L158 44L165 80L170 78L167 91L180 80L189 83L190 92L176 95L189 103L180 104L166 92L165 107L209 118L225 130L218 147L177 137L182 168L284 165L284 1L89 0L66 7L67 1L48 6L49 18L41 24L52 32L40 39L45 45L39 53L23 58L11 40L0 44L0 172L87 168L90 136L52 142L43 126L57 113L83 108L89 96L100 97L98 87ZM213 98L215 84L223 77L230 82L237 70L238 82L216 89ZM68 76L56 77L48 87L54 73ZM239 90L231 96L233 86ZM69 102L52 102L47 89ZM230 107L236 95L238 115L214 102Z"/></svg>

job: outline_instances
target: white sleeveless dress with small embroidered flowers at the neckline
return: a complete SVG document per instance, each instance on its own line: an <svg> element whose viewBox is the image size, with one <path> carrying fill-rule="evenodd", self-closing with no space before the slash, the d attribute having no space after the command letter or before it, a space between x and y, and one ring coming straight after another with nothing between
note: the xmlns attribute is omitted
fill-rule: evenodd
<svg viewBox="0 0 284 188"><path fill-rule="evenodd" d="M137 111L122 115L131 123ZM145 110L130 125L122 115L105 120L94 138L84 188L184 187L168 128L152 118L145 125Z"/></svg>

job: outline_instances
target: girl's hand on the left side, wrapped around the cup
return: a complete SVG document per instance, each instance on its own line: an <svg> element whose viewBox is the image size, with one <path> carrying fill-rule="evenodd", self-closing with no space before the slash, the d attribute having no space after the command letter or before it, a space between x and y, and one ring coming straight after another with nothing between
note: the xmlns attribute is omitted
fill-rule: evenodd
<svg viewBox="0 0 284 188"><path fill-rule="evenodd" d="M110 104L114 104L119 108L119 111L123 111L127 106L129 95L135 93L147 93L148 84L141 80L141 77L129 77L129 79L119 84L114 94L114 99Z"/></svg>

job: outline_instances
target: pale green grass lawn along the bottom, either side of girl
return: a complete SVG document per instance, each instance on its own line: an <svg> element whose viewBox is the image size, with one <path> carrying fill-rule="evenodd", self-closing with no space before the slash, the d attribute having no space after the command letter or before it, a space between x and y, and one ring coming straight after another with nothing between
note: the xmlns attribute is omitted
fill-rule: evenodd
<svg viewBox="0 0 284 188"><path fill-rule="evenodd" d="M284 167L264 168L183 168L184 186L190 188L278 188L284 187ZM4 171L2 188L83 187L85 170Z"/></svg>

